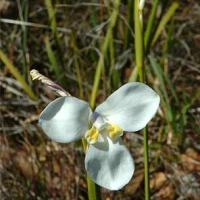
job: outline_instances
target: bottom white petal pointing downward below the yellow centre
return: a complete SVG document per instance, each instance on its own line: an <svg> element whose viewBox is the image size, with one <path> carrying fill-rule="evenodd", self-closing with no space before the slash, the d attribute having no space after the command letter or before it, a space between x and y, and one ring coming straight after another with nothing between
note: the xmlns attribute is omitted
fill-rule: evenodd
<svg viewBox="0 0 200 200"><path fill-rule="evenodd" d="M120 138L113 143L104 137L103 142L89 146L85 168L98 185L109 190L119 190L132 178L134 163Z"/></svg>

